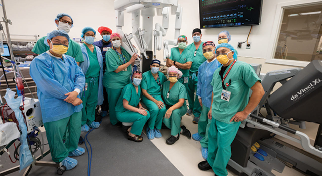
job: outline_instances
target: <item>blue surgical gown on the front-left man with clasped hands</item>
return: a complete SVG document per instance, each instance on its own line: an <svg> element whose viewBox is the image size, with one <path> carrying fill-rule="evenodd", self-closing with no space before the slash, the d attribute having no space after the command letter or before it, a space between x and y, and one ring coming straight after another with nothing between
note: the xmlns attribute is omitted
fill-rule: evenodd
<svg viewBox="0 0 322 176"><path fill-rule="evenodd" d="M44 52L31 62L30 76L37 85L43 123L69 117L83 108L82 104L74 106L64 101L64 94L85 86L85 76L71 56L63 54L58 59Z"/></svg>

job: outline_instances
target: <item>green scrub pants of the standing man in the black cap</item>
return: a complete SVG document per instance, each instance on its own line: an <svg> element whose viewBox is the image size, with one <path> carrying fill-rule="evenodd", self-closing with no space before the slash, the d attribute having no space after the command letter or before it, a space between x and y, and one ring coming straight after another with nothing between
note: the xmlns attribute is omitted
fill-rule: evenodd
<svg viewBox="0 0 322 176"><path fill-rule="evenodd" d="M188 89L187 89L189 109L192 110L195 117L200 117L201 106L200 106L200 103L198 100L198 96L196 94L194 94L194 92L197 91L198 78L195 75L194 79L192 79L193 74L195 74L195 73L193 73L193 72L190 73L189 82L188 82Z"/></svg>

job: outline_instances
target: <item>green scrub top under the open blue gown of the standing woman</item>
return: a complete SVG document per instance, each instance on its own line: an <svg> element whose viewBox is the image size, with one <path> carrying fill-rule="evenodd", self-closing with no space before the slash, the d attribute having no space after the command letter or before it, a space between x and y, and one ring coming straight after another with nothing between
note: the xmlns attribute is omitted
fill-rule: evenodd
<svg viewBox="0 0 322 176"><path fill-rule="evenodd" d="M86 78L96 78L99 76L99 60L97 60L97 54L96 54L96 47L94 47L94 51L90 51L90 49L87 47L86 44L83 43L83 45L86 47L88 57L90 59L90 66L88 67L85 77Z"/></svg>

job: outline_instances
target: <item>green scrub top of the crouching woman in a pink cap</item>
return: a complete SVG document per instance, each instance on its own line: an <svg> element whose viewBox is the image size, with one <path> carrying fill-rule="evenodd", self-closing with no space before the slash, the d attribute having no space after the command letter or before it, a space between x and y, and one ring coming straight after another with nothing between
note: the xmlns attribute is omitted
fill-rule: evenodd
<svg viewBox="0 0 322 176"><path fill-rule="evenodd" d="M172 86L170 91L169 89L170 89L170 81L164 82L163 88L162 88L162 95L163 95L164 103L167 106L175 105L176 103L179 102L179 99L181 98L184 98L185 100L188 99L185 86L179 81L177 81L175 85ZM168 92L169 92L169 98L166 97ZM185 106L186 104L187 103L185 102L183 106Z"/></svg>

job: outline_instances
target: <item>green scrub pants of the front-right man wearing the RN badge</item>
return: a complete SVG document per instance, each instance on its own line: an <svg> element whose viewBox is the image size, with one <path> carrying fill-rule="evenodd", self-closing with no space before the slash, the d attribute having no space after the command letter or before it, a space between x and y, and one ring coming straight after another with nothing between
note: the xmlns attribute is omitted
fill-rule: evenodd
<svg viewBox="0 0 322 176"><path fill-rule="evenodd" d="M241 122L226 124L212 117L208 134L209 147L207 161L218 176L228 175L226 166L232 156L230 145L237 134L240 124Z"/></svg>

